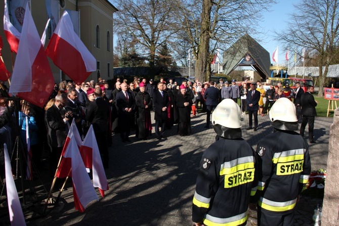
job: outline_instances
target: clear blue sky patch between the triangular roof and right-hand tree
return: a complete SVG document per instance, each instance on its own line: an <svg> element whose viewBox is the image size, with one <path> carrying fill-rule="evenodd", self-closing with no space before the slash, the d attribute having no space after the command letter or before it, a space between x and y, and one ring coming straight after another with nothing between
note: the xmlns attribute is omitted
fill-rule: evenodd
<svg viewBox="0 0 339 226"><path fill-rule="evenodd" d="M287 27L287 21L290 18L289 14L294 11L293 4L298 4L301 0L278 0L277 2L277 4L271 7L271 12L264 14L263 21L259 23L262 29L264 29L264 32L267 32L267 35L262 38L263 41L259 43L270 53L271 63L273 63L272 53L274 49L279 46L278 63L285 64L286 51L278 41L274 40L274 31L281 30L281 32L284 32ZM289 62L292 60L293 56L290 53Z"/></svg>

